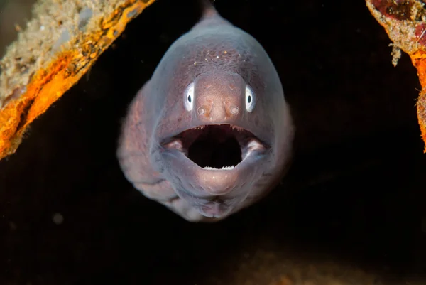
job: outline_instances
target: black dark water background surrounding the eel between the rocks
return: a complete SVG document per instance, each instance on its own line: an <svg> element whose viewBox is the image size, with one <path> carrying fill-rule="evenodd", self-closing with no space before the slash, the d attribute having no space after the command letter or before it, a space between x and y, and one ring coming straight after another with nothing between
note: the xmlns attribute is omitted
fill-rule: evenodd
<svg viewBox="0 0 426 285"><path fill-rule="evenodd" d="M204 225L126 181L115 158L120 120L200 16L195 0L155 1L0 161L1 284L378 284L346 266L384 284L426 282L420 84L408 55L393 67L365 1L215 4L280 74L297 127L283 185Z"/></svg>

